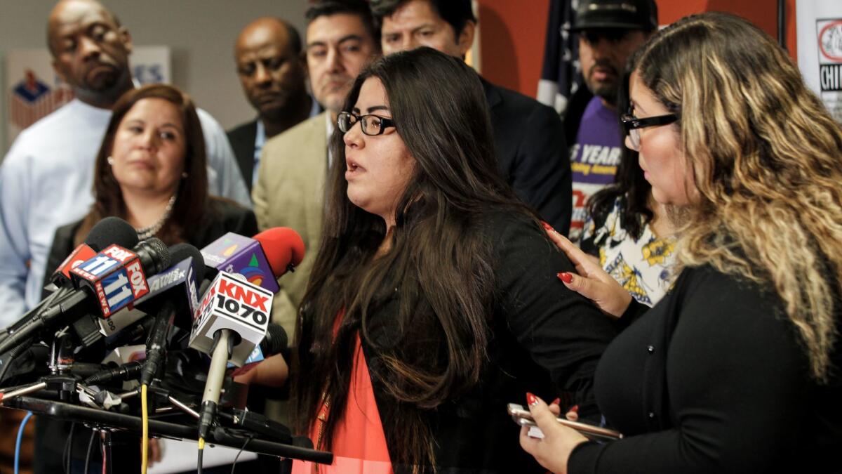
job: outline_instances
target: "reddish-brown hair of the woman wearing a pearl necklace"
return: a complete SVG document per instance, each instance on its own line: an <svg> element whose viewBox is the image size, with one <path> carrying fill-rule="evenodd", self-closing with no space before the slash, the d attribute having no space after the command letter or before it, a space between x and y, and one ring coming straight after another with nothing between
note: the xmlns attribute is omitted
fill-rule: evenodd
<svg viewBox="0 0 842 474"><path fill-rule="evenodd" d="M114 112L105 131L103 143L97 153L93 171L93 207L83 218L76 232L76 240L81 241L93 224L109 216L125 218L126 208L120 184L108 164L108 157L114 147L114 137L120 121L125 114L143 99L163 99L178 108L184 121L184 171L187 177L179 184L173 211L156 236L173 244L188 241L193 233L200 229L205 218L208 202L207 159L205 158L205 137L202 135L201 122L196 114L193 100L179 89L167 84L150 84L138 89L131 89L120 96L114 106Z"/></svg>

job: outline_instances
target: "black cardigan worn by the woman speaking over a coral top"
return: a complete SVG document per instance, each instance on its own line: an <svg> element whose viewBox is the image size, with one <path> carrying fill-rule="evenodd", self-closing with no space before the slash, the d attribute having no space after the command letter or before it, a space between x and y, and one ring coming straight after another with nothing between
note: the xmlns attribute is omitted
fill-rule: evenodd
<svg viewBox="0 0 842 474"><path fill-rule="evenodd" d="M568 290L557 272L573 265L544 230L525 217L495 213L477 218L492 239L497 298L489 319L492 337L480 384L458 400L422 412L434 436L438 472L545 472L518 445L519 427L507 403L525 403L526 391L552 400L563 391L569 403L593 406L593 376L616 330L587 299ZM466 275L466 277L471 277ZM407 337L394 324L399 296L370 316L371 340L379 346L434 357L434 340ZM424 304L419 313L424 313ZM429 319L429 318L428 318ZM423 321L419 321L423 324ZM413 326L416 321L413 321ZM378 383L382 362L363 339L365 361L384 425L394 419L396 401ZM394 462L395 443L386 444ZM396 472L408 471L395 464Z"/></svg>

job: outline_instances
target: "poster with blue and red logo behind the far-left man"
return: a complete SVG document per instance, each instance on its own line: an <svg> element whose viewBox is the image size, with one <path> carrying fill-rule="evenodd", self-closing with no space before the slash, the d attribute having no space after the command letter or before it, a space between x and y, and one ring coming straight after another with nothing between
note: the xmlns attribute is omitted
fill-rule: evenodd
<svg viewBox="0 0 842 474"><path fill-rule="evenodd" d="M137 46L131 53L131 72L138 83L171 80L167 46ZM6 54L7 148L24 128L73 100L73 92L51 66L46 49L13 50Z"/></svg>

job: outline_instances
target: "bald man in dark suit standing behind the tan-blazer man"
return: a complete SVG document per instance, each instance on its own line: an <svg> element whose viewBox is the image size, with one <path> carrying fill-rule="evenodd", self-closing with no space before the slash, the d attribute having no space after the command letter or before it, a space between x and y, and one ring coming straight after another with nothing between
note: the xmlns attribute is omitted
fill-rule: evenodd
<svg viewBox="0 0 842 474"><path fill-rule="evenodd" d="M277 18L248 24L234 46L237 75L258 118L228 132L248 191L257 179L260 150L267 139L321 111L305 85L301 37Z"/></svg>

